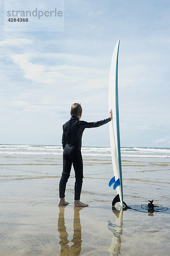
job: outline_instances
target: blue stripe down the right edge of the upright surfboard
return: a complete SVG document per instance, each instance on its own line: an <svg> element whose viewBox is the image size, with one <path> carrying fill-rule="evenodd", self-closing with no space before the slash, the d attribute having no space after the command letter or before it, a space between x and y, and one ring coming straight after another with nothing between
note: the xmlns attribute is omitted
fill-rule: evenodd
<svg viewBox="0 0 170 256"><path fill-rule="evenodd" d="M120 43L120 41L119 41L119 43ZM117 49L117 58L116 58L116 87L115 87L115 96L116 96L116 128L117 128L118 160L119 160L119 175L120 175L119 183L121 185L122 202L123 202L122 163L121 163L121 154L120 154L120 131L119 131L118 54L119 54L119 45L118 45L118 49ZM114 183L114 185L115 185L115 183ZM114 186L113 186L113 189L114 189Z"/></svg>

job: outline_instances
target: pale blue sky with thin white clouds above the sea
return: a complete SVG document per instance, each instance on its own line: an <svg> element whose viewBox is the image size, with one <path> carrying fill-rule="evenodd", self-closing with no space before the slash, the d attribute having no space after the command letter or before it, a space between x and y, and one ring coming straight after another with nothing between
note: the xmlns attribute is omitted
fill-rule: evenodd
<svg viewBox="0 0 170 256"><path fill-rule="evenodd" d="M120 39L121 146L170 147L169 0L65 0L63 32L4 31L0 6L0 144L61 145L74 102L82 120L107 118ZM108 124L82 145L110 146Z"/></svg>

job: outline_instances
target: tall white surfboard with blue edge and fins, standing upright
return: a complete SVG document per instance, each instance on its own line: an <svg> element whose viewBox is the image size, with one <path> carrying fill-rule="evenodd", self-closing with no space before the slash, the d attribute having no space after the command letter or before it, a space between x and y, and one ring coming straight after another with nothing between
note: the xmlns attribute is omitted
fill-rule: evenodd
<svg viewBox="0 0 170 256"><path fill-rule="evenodd" d="M120 132L119 132L119 102L118 102L118 54L119 43L117 41L113 51L108 91L108 108L112 109L113 119L109 122L109 134L111 143L111 157L114 177L110 180L109 186L113 185L116 190L116 197L113 199L112 205L120 202L123 207L123 185L122 185L122 164L120 153Z"/></svg>

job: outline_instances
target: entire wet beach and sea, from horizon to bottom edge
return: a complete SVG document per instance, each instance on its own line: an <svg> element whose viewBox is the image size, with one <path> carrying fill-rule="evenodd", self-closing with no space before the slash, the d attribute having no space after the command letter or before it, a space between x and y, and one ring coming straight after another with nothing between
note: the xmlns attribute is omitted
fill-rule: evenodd
<svg viewBox="0 0 170 256"><path fill-rule="evenodd" d="M110 148L82 147L84 180L74 208L74 170L67 207L58 207L62 147L0 145L0 255L169 255L170 210L139 211L153 199L170 206L170 149L121 148L124 201L111 202ZM136 210L137 209L137 210Z"/></svg>

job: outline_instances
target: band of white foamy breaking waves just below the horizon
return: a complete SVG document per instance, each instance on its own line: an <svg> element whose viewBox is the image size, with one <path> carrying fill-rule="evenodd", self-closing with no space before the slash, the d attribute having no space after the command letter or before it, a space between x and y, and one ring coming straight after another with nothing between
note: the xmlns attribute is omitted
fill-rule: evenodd
<svg viewBox="0 0 170 256"><path fill-rule="evenodd" d="M21 155L62 155L62 146L56 145L0 145L0 154ZM109 147L82 147L82 155L85 157L111 157ZM170 157L169 148L121 148L122 157Z"/></svg>

